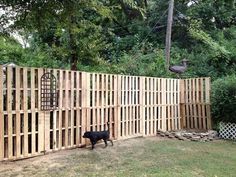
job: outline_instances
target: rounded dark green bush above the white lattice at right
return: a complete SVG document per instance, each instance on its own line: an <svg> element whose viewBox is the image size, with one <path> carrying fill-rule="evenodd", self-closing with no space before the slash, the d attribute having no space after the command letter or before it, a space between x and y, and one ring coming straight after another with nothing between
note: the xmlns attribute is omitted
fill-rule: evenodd
<svg viewBox="0 0 236 177"><path fill-rule="evenodd" d="M212 116L214 123L236 123L236 75L217 79L212 84Z"/></svg>

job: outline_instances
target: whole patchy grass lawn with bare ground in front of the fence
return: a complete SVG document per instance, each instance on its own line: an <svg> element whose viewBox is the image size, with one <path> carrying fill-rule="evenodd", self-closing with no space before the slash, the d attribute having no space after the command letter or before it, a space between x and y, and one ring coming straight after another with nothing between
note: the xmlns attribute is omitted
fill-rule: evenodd
<svg viewBox="0 0 236 177"><path fill-rule="evenodd" d="M114 142L0 163L0 176L236 176L236 142L183 142L158 137Z"/></svg>

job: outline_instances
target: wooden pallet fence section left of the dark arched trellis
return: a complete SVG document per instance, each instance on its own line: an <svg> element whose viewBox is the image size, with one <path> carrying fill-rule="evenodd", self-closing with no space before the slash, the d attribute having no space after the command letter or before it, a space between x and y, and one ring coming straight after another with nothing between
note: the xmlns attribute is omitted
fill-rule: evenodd
<svg viewBox="0 0 236 177"><path fill-rule="evenodd" d="M40 154L38 71L0 66L0 160Z"/></svg>

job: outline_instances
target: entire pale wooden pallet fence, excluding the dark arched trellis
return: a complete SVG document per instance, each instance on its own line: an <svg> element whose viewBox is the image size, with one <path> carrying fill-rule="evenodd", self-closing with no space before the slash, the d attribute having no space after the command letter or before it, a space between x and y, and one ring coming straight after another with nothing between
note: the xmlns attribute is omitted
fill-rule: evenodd
<svg viewBox="0 0 236 177"><path fill-rule="evenodd" d="M51 111L41 111L46 72L56 77ZM109 129L113 139L127 139L181 128L211 128L209 78L0 66L0 161L83 146L85 131Z"/></svg>

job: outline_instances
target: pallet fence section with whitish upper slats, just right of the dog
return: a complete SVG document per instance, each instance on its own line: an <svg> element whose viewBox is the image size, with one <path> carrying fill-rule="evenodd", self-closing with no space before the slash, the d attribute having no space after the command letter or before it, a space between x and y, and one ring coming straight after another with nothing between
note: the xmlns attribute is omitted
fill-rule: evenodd
<svg viewBox="0 0 236 177"><path fill-rule="evenodd" d="M126 139L141 136L141 78L137 76L118 76L119 84L119 131L118 138Z"/></svg>

